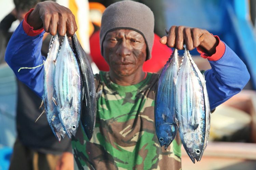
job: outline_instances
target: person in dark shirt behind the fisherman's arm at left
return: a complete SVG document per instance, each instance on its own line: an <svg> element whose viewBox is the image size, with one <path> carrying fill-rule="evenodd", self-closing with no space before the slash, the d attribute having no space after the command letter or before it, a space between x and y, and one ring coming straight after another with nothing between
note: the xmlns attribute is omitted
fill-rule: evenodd
<svg viewBox="0 0 256 170"><path fill-rule="evenodd" d="M42 0L14 0L15 9L0 23L1 41L8 42L11 34L8 30L12 22L24 19L25 14ZM39 47L44 56L47 56L51 36L45 34L43 43ZM5 51L7 43L0 49ZM3 56L0 56L0 59ZM1 60L0 60L1 61ZM39 169L49 170L57 168L72 168L73 160L71 141L68 137L59 143L48 125L46 116L42 116L37 123L35 120L41 114L38 109L42 101L28 86L17 80L17 111L16 128L17 138L13 147L10 170Z"/></svg>

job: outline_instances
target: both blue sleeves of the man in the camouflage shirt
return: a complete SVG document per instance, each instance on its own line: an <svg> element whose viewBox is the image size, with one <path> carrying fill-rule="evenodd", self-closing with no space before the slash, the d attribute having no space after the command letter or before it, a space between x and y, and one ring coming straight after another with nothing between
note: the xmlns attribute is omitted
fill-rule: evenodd
<svg viewBox="0 0 256 170"><path fill-rule="evenodd" d="M40 97L43 96L44 88L43 65L34 69L21 69L19 72L18 70L21 67L36 67L43 63L45 60L41 54L43 34L44 32L36 36L29 36L24 31L23 24L20 23L13 33L5 53L5 61L13 69L17 78ZM245 64L226 44L223 46L224 54L215 56L217 61L209 58L212 69L204 73L211 109L240 92L250 79Z"/></svg>

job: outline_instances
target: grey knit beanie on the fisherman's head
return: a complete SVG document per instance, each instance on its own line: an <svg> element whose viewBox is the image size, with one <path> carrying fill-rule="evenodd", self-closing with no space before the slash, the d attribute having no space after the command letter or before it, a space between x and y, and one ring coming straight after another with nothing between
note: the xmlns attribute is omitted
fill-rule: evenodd
<svg viewBox="0 0 256 170"><path fill-rule="evenodd" d="M130 29L140 33L147 45L146 60L151 58L154 42L154 14L149 7L130 0L119 1L108 6L101 19L101 55L103 55L103 41L106 34L116 29Z"/></svg>

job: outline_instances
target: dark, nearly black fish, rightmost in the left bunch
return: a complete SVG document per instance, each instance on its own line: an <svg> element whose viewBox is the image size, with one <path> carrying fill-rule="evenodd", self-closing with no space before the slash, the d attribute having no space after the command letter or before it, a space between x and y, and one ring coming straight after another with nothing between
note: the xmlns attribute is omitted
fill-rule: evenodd
<svg viewBox="0 0 256 170"><path fill-rule="evenodd" d="M93 136L93 131L95 128L97 111L96 104L101 96L102 90L96 93L93 70L91 69L88 57L83 50L76 34L74 34L71 39L75 56L77 57L77 61L80 63L81 77L84 87L81 124L87 138L90 140Z"/></svg>

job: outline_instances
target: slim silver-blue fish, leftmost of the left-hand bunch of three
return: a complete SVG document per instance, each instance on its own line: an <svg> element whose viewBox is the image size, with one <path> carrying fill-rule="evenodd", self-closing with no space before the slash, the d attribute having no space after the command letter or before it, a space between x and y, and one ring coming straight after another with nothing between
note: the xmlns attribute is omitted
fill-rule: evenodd
<svg viewBox="0 0 256 170"><path fill-rule="evenodd" d="M47 58L45 61L43 61L44 94L42 104L44 104L44 112L46 113L46 118L49 126L51 127L58 141L60 141L61 137L64 138L66 136L66 132L60 123L57 107L52 100L54 94L55 62L60 48L58 34L52 36L50 42L51 43L49 45L49 52L47 54Z"/></svg>

